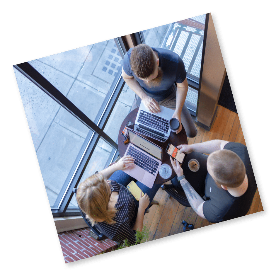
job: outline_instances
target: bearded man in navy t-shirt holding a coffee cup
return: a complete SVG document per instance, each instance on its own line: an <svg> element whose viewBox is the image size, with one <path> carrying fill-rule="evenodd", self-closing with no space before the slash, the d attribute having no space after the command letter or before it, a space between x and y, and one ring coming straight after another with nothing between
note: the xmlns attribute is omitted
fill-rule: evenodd
<svg viewBox="0 0 276 276"><path fill-rule="evenodd" d="M159 113L159 105L175 110L180 127L184 126L188 137L195 137L197 130L185 99L188 81L183 60L178 54L162 48L151 48L139 44L131 48L123 59L122 77L136 93L132 110L139 107L141 100L153 113ZM176 85L175 85L176 82Z"/></svg>

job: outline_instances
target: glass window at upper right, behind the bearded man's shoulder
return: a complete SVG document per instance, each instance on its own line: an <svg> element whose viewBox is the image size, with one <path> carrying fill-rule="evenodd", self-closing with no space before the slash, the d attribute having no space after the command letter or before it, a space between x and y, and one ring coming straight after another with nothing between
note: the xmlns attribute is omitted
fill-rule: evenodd
<svg viewBox="0 0 276 276"><path fill-rule="evenodd" d="M206 15L195 16L143 31L145 43L177 53L185 64L189 90L185 105L195 115Z"/></svg>

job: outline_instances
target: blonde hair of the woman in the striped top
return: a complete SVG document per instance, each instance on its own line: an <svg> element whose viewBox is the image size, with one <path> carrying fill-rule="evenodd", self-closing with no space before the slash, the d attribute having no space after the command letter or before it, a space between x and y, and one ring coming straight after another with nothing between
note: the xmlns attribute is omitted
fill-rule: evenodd
<svg viewBox="0 0 276 276"><path fill-rule="evenodd" d="M117 209L108 206L110 200L109 180L97 173L86 178L76 193L76 199L82 212L86 214L92 226L97 224L96 219L103 219L108 224L115 224Z"/></svg>

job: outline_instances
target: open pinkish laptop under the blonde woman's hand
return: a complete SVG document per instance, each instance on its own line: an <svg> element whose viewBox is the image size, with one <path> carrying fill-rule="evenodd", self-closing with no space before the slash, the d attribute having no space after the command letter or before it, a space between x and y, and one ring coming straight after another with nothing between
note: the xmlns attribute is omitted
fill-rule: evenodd
<svg viewBox="0 0 276 276"><path fill-rule="evenodd" d="M124 171L147 187L152 188L162 163L162 148L133 130L129 128L127 130L130 143L124 156L132 156L134 164Z"/></svg>

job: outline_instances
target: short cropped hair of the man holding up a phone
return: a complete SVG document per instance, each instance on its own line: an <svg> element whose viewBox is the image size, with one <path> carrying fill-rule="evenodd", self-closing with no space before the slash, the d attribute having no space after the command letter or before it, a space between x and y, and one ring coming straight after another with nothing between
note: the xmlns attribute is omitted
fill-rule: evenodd
<svg viewBox="0 0 276 276"><path fill-rule="evenodd" d="M246 170L241 158L229 149L212 152L207 159L207 164L213 172L213 179L218 187L223 185L228 188L237 188L243 183Z"/></svg>

